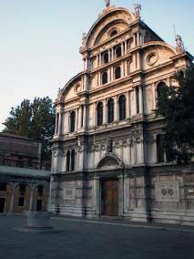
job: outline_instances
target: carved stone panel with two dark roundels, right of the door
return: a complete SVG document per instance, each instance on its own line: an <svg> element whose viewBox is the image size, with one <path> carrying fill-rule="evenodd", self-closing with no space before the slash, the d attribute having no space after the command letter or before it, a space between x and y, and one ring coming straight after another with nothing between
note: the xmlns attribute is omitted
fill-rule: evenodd
<svg viewBox="0 0 194 259"><path fill-rule="evenodd" d="M179 182L156 182L157 202L179 202Z"/></svg>

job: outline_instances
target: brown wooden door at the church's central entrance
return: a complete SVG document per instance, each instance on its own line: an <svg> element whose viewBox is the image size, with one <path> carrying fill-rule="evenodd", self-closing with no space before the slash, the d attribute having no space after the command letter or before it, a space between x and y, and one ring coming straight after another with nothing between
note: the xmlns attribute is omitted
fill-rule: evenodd
<svg viewBox="0 0 194 259"><path fill-rule="evenodd" d="M118 181L102 181L102 214L118 215Z"/></svg>

